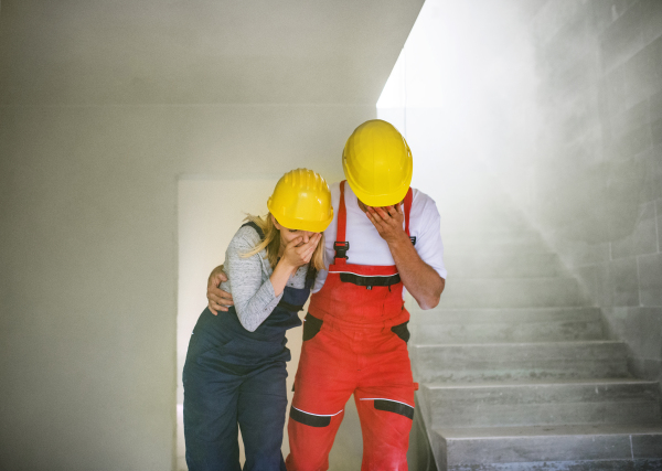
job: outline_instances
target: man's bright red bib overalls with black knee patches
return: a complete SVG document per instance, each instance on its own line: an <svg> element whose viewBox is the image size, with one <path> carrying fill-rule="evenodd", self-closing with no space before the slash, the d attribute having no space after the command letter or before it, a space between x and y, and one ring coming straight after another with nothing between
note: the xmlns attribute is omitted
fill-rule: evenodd
<svg viewBox="0 0 662 471"><path fill-rule="evenodd" d="M344 257L346 211L340 184L334 264L312 295L295 378L289 471L329 469L329 451L352 395L363 432L362 470L406 470L414 417L407 353L409 313L395 265L351 265ZM405 197L409 235L412 190ZM340 251L340 255L339 255Z"/></svg>

